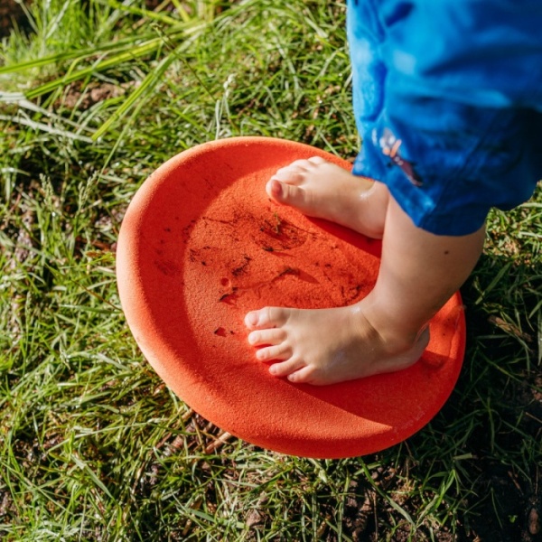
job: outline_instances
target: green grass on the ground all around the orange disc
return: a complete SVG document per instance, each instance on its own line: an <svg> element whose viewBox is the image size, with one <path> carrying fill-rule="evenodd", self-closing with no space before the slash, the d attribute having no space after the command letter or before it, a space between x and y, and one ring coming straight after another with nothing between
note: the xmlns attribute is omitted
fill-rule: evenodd
<svg viewBox="0 0 542 542"><path fill-rule="evenodd" d="M135 346L118 229L145 177L204 141L272 135L355 155L344 7L27 10L32 32L0 48L0 537L539 539L542 193L491 213L463 288L463 373L430 425L341 461L222 442Z"/></svg>

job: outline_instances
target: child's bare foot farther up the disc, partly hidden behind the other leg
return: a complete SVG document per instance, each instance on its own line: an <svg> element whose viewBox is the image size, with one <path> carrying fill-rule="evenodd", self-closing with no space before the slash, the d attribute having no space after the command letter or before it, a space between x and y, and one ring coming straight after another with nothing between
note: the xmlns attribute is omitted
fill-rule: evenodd
<svg viewBox="0 0 542 542"><path fill-rule="evenodd" d="M278 203L291 205L310 217L382 238L388 189L319 156L279 169L267 182L266 192Z"/></svg>

